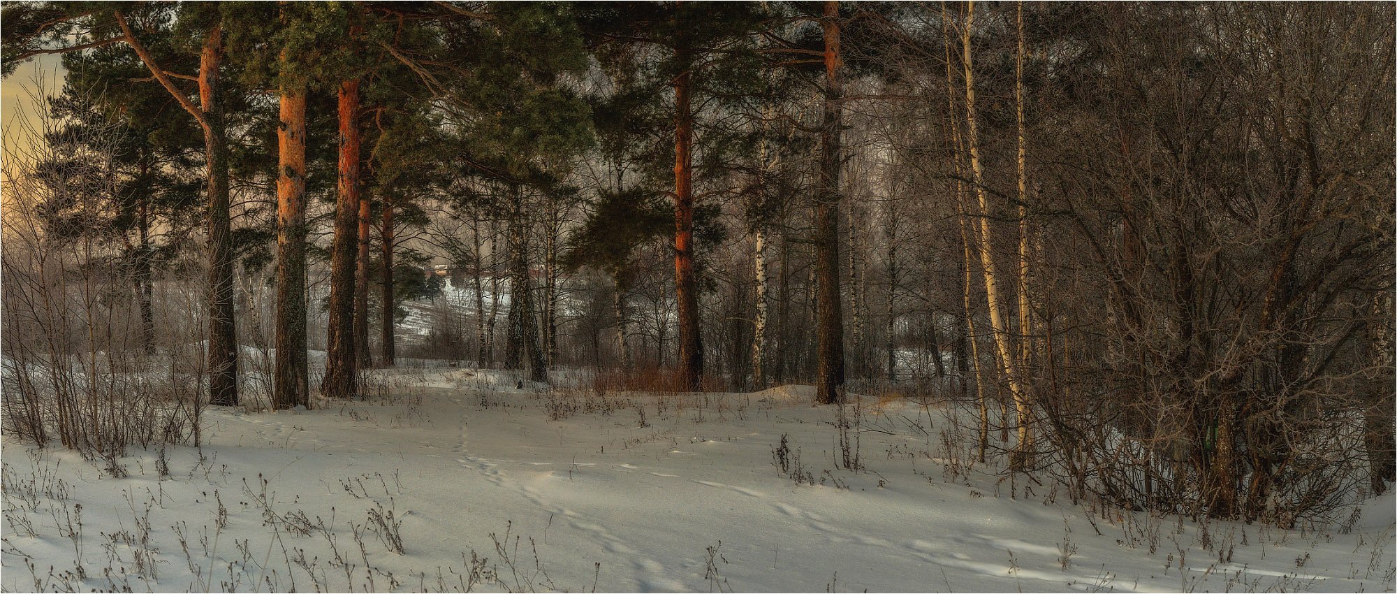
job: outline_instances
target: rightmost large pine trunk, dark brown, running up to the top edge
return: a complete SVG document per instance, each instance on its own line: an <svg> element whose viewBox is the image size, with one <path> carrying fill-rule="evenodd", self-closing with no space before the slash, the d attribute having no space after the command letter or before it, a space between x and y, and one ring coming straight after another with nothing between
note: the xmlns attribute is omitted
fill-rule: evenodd
<svg viewBox="0 0 1397 594"><path fill-rule="evenodd" d="M844 403L844 319L840 296L840 3L824 3L824 124L820 130L820 187L814 205L817 404Z"/></svg>

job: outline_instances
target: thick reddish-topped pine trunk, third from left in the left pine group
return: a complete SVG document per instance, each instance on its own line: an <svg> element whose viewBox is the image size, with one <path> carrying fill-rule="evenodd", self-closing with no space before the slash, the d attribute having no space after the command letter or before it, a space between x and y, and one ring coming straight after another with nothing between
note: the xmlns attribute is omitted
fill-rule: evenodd
<svg viewBox="0 0 1397 594"><path fill-rule="evenodd" d="M335 238L330 261L330 321L326 379L320 391L331 398L358 396L353 335L355 256L359 249L359 80L339 84L339 187Z"/></svg>

